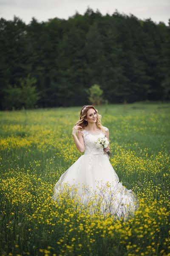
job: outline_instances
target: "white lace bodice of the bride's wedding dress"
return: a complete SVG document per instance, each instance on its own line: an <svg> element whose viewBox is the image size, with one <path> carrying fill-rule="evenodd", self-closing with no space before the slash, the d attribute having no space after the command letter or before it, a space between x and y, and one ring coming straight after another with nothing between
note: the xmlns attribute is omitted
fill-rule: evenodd
<svg viewBox="0 0 170 256"><path fill-rule="evenodd" d="M105 131L108 131L108 128L103 126ZM102 132L102 130L98 131L86 131L85 129L83 131L78 131L83 134L84 143L85 143L85 154L105 154L105 151L103 148L96 148L95 141L99 137L105 137L105 134Z"/></svg>

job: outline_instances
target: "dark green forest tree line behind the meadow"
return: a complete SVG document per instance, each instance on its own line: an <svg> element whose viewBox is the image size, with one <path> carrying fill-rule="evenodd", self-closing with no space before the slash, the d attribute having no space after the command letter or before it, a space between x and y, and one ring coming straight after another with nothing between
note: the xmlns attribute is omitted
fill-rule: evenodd
<svg viewBox="0 0 170 256"><path fill-rule="evenodd" d="M93 84L109 103L170 100L170 26L90 8L68 20L0 19L0 109L84 105Z"/></svg>

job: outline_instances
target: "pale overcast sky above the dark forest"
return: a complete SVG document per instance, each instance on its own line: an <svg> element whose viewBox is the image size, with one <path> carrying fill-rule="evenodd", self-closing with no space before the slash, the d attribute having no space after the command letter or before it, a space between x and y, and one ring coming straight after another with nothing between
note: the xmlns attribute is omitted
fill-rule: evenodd
<svg viewBox="0 0 170 256"><path fill-rule="evenodd" d="M102 15L112 15L117 9L121 14L133 14L142 20L151 18L166 25L170 18L170 0L0 0L0 17L11 20L15 15L26 23L32 17L38 21L68 19L76 11L84 14L88 7L95 12L99 9Z"/></svg>

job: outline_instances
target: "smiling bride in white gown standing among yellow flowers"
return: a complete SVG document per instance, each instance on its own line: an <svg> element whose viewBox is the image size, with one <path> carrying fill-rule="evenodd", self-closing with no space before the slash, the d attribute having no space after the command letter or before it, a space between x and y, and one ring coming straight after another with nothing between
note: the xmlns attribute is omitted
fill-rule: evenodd
<svg viewBox="0 0 170 256"><path fill-rule="evenodd" d="M75 186L74 194L77 193L83 205L89 207L94 199L94 202L100 202L96 205L100 206L102 214L111 213L117 218L127 219L139 207L139 202L136 194L119 182L109 161L109 144L106 148L96 148L98 138L107 137L109 141L109 130L102 126L101 117L94 106L82 107L72 136L77 149L85 153L60 176L52 198L57 200L65 184ZM90 212L94 213L93 210Z"/></svg>

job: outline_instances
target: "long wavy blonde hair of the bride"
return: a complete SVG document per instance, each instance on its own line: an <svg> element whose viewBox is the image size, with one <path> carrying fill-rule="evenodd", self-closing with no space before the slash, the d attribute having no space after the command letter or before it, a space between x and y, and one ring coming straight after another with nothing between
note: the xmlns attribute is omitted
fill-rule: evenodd
<svg viewBox="0 0 170 256"><path fill-rule="evenodd" d="M85 118L87 116L87 112L88 112L89 108L93 108L94 111L96 111L96 113L97 113L96 126L99 129L101 129L103 133L105 133L105 130L101 123L102 116L98 113L98 110L93 105L85 105L82 107L80 114L79 114L79 121L77 121L75 124L75 125L80 125L82 127L82 128L79 128L78 130L82 131L88 125L88 121L86 121ZM84 111L83 111L83 109L84 109Z"/></svg>

